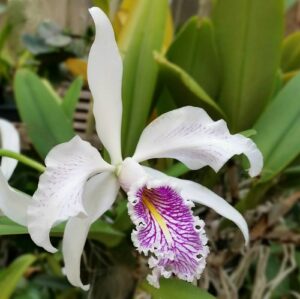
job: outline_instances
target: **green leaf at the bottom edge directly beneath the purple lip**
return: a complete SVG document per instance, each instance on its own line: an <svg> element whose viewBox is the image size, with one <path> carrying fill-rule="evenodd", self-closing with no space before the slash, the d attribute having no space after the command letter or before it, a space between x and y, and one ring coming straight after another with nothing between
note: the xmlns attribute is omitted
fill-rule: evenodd
<svg viewBox="0 0 300 299"><path fill-rule="evenodd" d="M145 289L152 299L214 299L204 290L193 286L191 283L179 279L161 279L160 288L154 288L148 283L143 283L142 288Z"/></svg>

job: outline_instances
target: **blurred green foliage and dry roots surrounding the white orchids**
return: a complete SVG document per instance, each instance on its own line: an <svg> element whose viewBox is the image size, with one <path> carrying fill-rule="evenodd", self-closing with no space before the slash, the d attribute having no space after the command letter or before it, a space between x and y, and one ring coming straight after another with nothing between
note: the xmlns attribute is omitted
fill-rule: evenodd
<svg viewBox="0 0 300 299"><path fill-rule="evenodd" d="M10 181L28 194L54 145L80 134L101 149L86 77L91 5L109 15L123 57L124 156L151 119L185 105L205 108L256 142L265 163L253 180L239 157L218 174L151 161L235 205L247 219L251 244L245 248L235 227L197 206L211 248L201 280L163 280L153 289L144 281L146 259L131 244L120 194L89 233L82 275L92 287L84 293L64 278L60 253L37 248L26 229L1 216L0 299L300 298L298 1L0 1L0 117L16 124L23 154L36 161L28 167L23 159ZM63 228L52 231L57 246Z"/></svg>

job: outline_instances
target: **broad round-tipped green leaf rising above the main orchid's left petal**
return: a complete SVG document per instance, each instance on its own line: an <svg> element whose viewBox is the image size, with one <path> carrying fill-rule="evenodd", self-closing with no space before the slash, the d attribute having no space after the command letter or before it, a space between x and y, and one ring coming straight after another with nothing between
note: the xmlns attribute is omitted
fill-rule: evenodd
<svg viewBox="0 0 300 299"><path fill-rule="evenodd" d="M74 136L72 122L66 117L57 97L34 73L19 70L14 92L21 118L41 157L45 157L55 145Z"/></svg>

